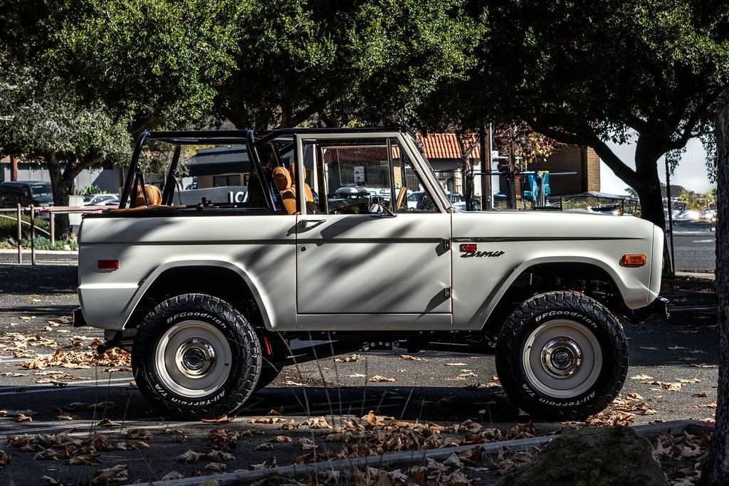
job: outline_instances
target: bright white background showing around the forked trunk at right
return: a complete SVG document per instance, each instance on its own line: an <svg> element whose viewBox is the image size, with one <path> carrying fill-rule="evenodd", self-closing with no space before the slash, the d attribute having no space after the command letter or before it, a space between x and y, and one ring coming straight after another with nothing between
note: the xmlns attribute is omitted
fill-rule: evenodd
<svg viewBox="0 0 729 486"><path fill-rule="evenodd" d="M635 144L612 144L608 143L615 154L620 157L623 162L635 168ZM660 181L666 182L666 162L663 157L658 161L658 177ZM698 194L716 187L716 184L709 182L706 176L706 152L701 146L698 138L692 138L686 144L686 152L684 152L681 162L671 175L671 185L683 186ZM604 162L600 162L600 190L610 194L626 194L625 188L628 184L621 181Z"/></svg>

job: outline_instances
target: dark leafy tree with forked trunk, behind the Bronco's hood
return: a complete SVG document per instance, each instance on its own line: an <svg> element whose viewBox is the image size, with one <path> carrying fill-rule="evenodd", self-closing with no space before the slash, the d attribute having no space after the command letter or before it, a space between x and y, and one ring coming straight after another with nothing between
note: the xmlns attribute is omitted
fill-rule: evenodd
<svg viewBox="0 0 729 486"><path fill-rule="evenodd" d="M488 35L467 79L446 80L423 111L434 127L518 122L591 146L663 227L656 162L712 131L729 83L725 2L488 2ZM444 108L443 111L436 111ZM636 170L607 141L637 133Z"/></svg>

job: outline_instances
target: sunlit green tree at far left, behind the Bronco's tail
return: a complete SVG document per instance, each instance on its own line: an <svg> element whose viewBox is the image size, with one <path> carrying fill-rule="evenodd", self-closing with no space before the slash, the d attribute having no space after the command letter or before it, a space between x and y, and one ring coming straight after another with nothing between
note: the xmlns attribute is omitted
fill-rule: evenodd
<svg viewBox="0 0 729 486"><path fill-rule="evenodd" d="M233 66L236 11L231 1L0 0L1 152L41 160L66 205L74 177L126 160L141 130L211 113Z"/></svg>

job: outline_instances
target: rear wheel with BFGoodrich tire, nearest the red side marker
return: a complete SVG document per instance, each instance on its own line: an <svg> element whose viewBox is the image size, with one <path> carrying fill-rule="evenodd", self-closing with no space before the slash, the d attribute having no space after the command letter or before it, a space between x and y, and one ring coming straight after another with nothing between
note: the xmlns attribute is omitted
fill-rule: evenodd
<svg viewBox="0 0 729 486"><path fill-rule="evenodd" d="M245 316L206 294L183 294L157 305L132 346L142 395L158 411L192 420L219 418L241 407L253 393L261 362L260 342ZM200 376L188 376L200 369Z"/></svg>

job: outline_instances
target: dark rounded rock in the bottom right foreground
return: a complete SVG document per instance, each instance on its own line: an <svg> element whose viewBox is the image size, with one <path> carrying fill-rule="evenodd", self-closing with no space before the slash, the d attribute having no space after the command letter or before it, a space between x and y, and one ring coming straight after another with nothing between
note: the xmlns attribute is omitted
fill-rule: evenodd
<svg viewBox="0 0 729 486"><path fill-rule="evenodd" d="M666 478L648 443L628 427L583 428L559 436L499 486L658 486Z"/></svg>

